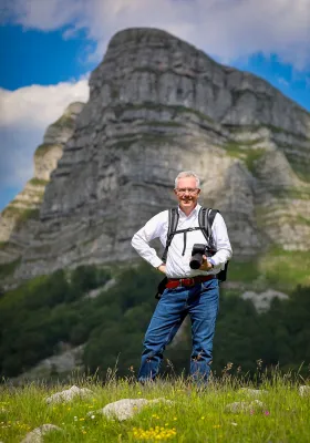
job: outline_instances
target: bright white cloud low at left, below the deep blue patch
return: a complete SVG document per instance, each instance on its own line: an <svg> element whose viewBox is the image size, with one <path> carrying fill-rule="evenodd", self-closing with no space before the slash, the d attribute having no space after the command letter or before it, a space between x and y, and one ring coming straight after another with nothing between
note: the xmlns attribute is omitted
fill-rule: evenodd
<svg viewBox="0 0 310 443"><path fill-rule="evenodd" d="M21 188L33 175L33 153L46 127L65 107L89 99L87 80L56 85L0 89L0 193Z"/></svg>

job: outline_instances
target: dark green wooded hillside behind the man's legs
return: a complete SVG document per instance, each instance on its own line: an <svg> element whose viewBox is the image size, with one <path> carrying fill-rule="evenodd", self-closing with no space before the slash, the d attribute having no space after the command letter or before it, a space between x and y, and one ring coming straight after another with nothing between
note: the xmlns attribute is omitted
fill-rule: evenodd
<svg viewBox="0 0 310 443"><path fill-rule="evenodd" d="M231 264L230 276L237 277L237 268ZM115 365L120 377L135 373L162 276L145 264L111 269L81 266L73 271L59 270L2 295L2 378L33 368L59 353L63 343L69 348L84 344L87 373L105 377ZM251 279L255 281L255 274ZM96 297L89 297L95 288ZM309 318L310 287L294 288L288 300L275 299L270 310L260 315L251 301L240 298L240 290L223 289L214 342L215 374L229 363L232 373L254 377L257 361L262 360L262 368L278 363L283 370L301 367L304 375L310 363ZM187 373L190 348L187 322L165 353L163 374ZM61 374L55 370L54 377Z"/></svg>

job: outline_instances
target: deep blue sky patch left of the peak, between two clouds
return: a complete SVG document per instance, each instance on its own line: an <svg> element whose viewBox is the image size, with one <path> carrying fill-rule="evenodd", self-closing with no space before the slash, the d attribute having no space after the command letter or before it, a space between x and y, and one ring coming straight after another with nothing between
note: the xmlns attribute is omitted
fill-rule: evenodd
<svg viewBox="0 0 310 443"><path fill-rule="evenodd" d="M79 37L63 40L62 31L24 30L21 25L0 28L0 86L10 91L32 84L56 84L94 69L83 61L87 40ZM2 64L3 63L3 64Z"/></svg>

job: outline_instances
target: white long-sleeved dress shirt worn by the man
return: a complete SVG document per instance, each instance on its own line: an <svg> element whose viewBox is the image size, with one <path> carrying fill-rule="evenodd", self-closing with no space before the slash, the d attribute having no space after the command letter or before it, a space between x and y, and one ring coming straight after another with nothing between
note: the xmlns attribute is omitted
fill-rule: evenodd
<svg viewBox="0 0 310 443"><path fill-rule="evenodd" d="M198 227L198 213L200 207L202 206L197 204L189 216L184 214L178 207L179 219L177 229ZM165 247L167 231L168 210L163 210L151 218L132 238L132 246L134 249L141 255L142 258L154 266L154 268L157 268L159 265L162 265L163 260L157 256L156 250L149 246L149 241L152 241L154 238L159 238L162 245ZM168 278L194 277L198 275L217 274L220 271L220 269L224 269L226 261L229 260L232 255L232 249L224 218L219 213L217 213L215 216L211 233L214 245L216 247L216 254L210 259L211 264L214 265L213 269L209 271L203 271L200 269L192 269L189 267L194 244L206 245L207 243L202 230L197 229L190 230L186 234L187 239L184 255L184 235L183 233L174 235L172 244L168 248L166 276Z"/></svg>

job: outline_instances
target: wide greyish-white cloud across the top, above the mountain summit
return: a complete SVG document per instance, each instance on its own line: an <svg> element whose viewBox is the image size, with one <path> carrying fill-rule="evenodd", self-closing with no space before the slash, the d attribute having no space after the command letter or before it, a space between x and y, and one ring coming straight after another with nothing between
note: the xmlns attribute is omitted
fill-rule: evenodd
<svg viewBox="0 0 310 443"><path fill-rule="evenodd" d="M161 28L224 62L277 53L310 64L310 0L11 0L17 23L41 30L86 29L101 60L107 41L131 27Z"/></svg>

